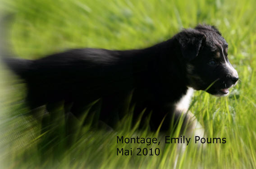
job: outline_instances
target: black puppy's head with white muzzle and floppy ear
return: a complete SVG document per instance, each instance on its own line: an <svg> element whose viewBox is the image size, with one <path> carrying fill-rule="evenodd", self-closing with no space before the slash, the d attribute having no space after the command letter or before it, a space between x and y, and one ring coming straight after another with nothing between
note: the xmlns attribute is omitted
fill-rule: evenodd
<svg viewBox="0 0 256 169"><path fill-rule="evenodd" d="M228 43L214 26L198 25L175 37L187 70L188 86L226 96L238 73L228 59ZM212 86L210 86L212 85ZM210 87L210 88L209 88Z"/></svg>

